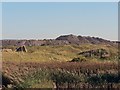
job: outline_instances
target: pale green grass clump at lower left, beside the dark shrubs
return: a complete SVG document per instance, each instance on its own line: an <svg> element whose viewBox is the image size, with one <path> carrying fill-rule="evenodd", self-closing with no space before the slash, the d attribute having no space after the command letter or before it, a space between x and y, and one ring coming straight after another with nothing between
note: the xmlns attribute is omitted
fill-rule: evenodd
<svg viewBox="0 0 120 90"><path fill-rule="evenodd" d="M36 70L27 76L23 83L17 85L21 88L54 88L48 70Z"/></svg>

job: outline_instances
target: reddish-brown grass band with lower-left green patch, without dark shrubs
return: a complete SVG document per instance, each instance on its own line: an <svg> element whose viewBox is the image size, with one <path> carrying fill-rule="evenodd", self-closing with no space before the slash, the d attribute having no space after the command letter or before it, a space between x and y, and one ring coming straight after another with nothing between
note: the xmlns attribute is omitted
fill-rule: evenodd
<svg viewBox="0 0 120 90"><path fill-rule="evenodd" d="M21 85L21 87L46 87L48 83L50 88L53 88L55 83L50 78L51 75L63 73L73 73L74 75L83 75L86 79L93 75L100 74L117 74L117 62L3 62L3 74ZM52 73L52 74L51 74ZM76 77L76 76L75 76ZM85 78L86 77L86 78ZM62 79L62 77L60 77ZM60 80L61 80L60 79ZM66 79L66 78L65 78ZM69 78L70 79L70 78ZM43 80L43 81L41 81ZM58 81L59 82L59 81ZM84 82L83 82L84 83ZM38 85L39 84L39 85Z"/></svg>

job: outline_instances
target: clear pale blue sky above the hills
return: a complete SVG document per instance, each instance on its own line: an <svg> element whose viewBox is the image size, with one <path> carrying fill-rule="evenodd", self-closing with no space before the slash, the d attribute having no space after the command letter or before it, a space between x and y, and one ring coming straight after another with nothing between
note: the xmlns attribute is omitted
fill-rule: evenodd
<svg viewBox="0 0 120 90"><path fill-rule="evenodd" d="M118 40L118 3L2 3L2 39L53 39L68 34Z"/></svg>

